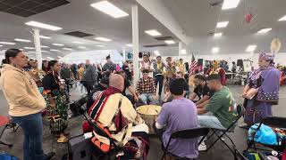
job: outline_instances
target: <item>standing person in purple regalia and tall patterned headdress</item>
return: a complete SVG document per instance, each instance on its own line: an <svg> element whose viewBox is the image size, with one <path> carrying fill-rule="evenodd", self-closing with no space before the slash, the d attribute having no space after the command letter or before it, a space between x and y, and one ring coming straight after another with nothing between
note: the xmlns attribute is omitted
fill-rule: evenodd
<svg viewBox="0 0 286 160"><path fill-rule="evenodd" d="M248 77L248 84L243 90L246 114L244 122L249 127L260 123L266 116L273 116L272 105L278 104L279 70L273 68L273 55L259 54L257 70Z"/></svg>

